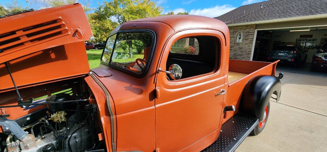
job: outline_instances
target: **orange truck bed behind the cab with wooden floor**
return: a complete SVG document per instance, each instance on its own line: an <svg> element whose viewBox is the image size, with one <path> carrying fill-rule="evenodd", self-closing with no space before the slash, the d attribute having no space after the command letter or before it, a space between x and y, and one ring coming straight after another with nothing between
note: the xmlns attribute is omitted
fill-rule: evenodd
<svg viewBox="0 0 327 152"><path fill-rule="evenodd" d="M279 61L279 60L278 60ZM246 60L229 60L228 91L226 105L234 105L236 111L228 111L224 116L224 122L238 112L243 88L255 75L276 75L277 62L259 62Z"/></svg>

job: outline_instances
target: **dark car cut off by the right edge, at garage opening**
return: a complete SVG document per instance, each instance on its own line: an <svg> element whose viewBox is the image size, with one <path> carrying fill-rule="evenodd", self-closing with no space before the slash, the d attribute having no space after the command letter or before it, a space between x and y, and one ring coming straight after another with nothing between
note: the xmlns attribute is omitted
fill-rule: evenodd
<svg viewBox="0 0 327 152"><path fill-rule="evenodd" d="M317 71L319 68L327 68L327 43L312 56L312 63L310 70Z"/></svg>

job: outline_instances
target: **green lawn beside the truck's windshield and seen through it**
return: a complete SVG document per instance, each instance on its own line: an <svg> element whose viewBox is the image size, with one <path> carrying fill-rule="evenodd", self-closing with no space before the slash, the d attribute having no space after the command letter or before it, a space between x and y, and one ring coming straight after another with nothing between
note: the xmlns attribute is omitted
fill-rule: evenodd
<svg viewBox="0 0 327 152"><path fill-rule="evenodd" d="M137 52L133 51L133 57L129 58L127 57L128 54L124 54L123 50L116 50L115 51L118 55L116 58L112 59L113 62L119 62L119 63L124 63L124 62L131 62L135 61L137 58L143 59L144 53L137 54ZM87 58L89 59L89 65L90 68L97 68L100 65L100 58L102 54L102 50L86 50Z"/></svg>

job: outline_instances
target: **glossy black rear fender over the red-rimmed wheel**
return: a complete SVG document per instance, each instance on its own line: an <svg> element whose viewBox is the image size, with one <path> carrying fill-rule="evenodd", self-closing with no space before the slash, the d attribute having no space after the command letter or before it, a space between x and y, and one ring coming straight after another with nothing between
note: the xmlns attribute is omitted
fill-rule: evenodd
<svg viewBox="0 0 327 152"><path fill-rule="evenodd" d="M264 108L272 94L280 98L282 90L281 81L275 76L258 75L252 77L245 85L241 102L240 112L263 120Z"/></svg>

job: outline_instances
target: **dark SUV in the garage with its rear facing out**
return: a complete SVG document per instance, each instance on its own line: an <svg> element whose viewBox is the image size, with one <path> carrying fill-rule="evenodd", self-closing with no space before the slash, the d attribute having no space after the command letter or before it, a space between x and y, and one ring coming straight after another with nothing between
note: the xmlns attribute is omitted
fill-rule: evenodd
<svg viewBox="0 0 327 152"><path fill-rule="evenodd" d="M281 62L291 63L295 67L300 66L301 63L305 63L307 59L308 50L304 50L299 44L296 45L279 45L268 53L269 61L281 60Z"/></svg>

